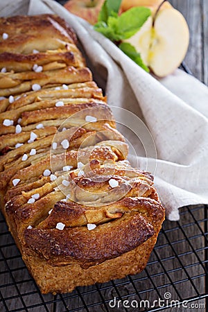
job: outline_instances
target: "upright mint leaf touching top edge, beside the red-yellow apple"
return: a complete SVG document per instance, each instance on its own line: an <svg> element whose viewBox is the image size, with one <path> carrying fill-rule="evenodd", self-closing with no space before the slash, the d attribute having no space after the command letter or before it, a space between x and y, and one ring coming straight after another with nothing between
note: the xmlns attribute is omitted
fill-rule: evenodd
<svg viewBox="0 0 208 312"><path fill-rule="evenodd" d="M117 16L121 1L122 0L105 0L98 15L98 21L105 21L105 23L107 23L108 17Z"/></svg>

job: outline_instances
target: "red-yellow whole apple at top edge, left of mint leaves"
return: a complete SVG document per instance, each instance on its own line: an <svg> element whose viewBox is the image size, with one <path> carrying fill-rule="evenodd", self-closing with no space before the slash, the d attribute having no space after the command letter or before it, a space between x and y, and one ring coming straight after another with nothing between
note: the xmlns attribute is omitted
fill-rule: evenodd
<svg viewBox="0 0 208 312"><path fill-rule="evenodd" d="M65 3L64 7L69 12L82 17L89 24L96 24L99 12L105 0L70 0Z"/></svg>

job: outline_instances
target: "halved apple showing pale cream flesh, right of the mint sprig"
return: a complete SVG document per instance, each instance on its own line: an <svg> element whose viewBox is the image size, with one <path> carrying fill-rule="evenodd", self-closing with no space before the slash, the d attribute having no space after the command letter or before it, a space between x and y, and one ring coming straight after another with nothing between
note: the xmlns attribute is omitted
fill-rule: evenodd
<svg viewBox="0 0 208 312"><path fill-rule="evenodd" d="M183 15L172 7L160 9L154 22L153 16L125 42L135 46L156 76L164 77L184 60L189 46L189 28Z"/></svg>

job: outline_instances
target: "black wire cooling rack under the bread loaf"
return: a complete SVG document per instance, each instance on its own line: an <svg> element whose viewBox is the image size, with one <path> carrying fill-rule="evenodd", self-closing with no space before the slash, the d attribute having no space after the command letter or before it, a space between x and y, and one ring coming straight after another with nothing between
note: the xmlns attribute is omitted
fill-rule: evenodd
<svg viewBox="0 0 208 312"><path fill-rule="evenodd" d="M205 311L207 293L207 207L180 209L180 221L164 221L146 269L73 293L42 295L0 219L0 311ZM172 300L172 301L171 301ZM176 310L178 311L178 310Z"/></svg>

